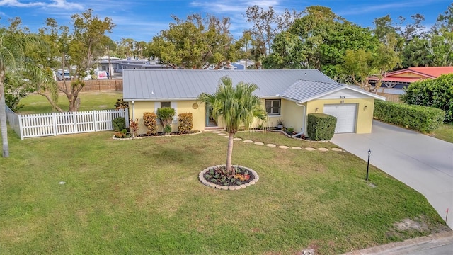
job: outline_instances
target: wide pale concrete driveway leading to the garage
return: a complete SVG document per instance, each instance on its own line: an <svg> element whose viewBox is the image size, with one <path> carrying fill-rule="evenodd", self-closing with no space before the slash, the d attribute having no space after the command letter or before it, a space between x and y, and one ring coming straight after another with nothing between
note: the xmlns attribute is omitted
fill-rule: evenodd
<svg viewBox="0 0 453 255"><path fill-rule="evenodd" d="M364 160L371 149L370 164L422 193L442 219L449 208L453 229L452 143L376 120L371 134L336 134L332 142Z"/></svg>

